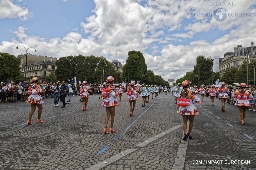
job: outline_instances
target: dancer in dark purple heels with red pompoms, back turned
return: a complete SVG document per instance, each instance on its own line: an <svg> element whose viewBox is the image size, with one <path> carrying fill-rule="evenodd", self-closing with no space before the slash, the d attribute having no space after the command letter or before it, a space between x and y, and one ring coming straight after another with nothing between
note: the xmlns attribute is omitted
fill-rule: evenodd
<svg viewBox="0 0 256 170"><path fill-rule="evenodd" d="M184 137L183 140L187 140L189 137L192 139L191 131L193 128L193 122L195 115L199 115L197 108L194 106L194 103L201 103L200 98L197 97L195 91L190 90L190 82L185 80L181 83L183 91L181 97L178 98L177 105L179 106L177 113L182 115L183 118L183 131ZM189 126L187 133L187 122L189 118Z"/></svg>

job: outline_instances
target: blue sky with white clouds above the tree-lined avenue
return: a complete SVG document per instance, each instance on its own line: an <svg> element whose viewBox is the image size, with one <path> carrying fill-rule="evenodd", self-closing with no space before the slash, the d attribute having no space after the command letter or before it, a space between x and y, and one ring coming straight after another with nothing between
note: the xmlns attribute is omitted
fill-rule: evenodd
<svg viewBox="0 0 256 170"><path fill-rule="evenodd" d="M223 57L238 44L256 43L255 0L213 2L0 0L0 52L24 54L24 48L16 49L23 45L36 48L28 50L34 55L95 55L122 63L128 51L140 50L148 69L176 80L193 70L197 55ZM219 22L213 17L218 8L248 16Z"/></svg>

